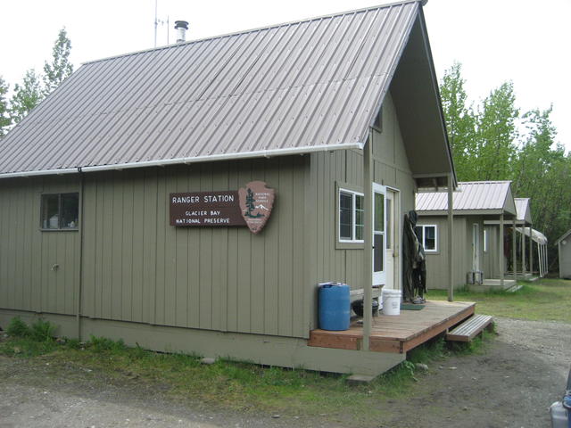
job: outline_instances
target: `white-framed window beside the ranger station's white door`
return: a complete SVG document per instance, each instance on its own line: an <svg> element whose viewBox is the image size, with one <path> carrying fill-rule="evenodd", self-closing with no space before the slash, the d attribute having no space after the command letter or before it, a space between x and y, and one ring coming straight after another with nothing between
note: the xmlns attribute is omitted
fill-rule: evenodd
<svg viewBox="0 0 571 428"><path fill-rule="evenodd" d="M339 190L339 241L362 243L365 225L363 194Z"/></svg>

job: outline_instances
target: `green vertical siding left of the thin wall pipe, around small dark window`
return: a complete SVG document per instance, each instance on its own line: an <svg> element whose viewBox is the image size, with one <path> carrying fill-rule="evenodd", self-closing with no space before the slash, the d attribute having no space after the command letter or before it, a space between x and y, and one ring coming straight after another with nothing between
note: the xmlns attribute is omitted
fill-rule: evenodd
<svg viewBox="0 0 571 428"><path fill-rule="evenodd" d="M0 186L0 308L73 314L79 232L42 232L42 193L79 192L69 177L14 178Z"/></svg>

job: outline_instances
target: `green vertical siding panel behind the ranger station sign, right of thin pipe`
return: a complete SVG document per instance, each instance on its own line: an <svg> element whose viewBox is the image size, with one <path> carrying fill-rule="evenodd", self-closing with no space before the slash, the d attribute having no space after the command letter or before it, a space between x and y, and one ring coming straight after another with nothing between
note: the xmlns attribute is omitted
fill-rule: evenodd
<svg viewBox="0 0 571 428"><path fill-rule="evenodd" d="M87 175L82 313L240 333L305 337L304 171L309 157ZM173 227L169 193L277 191L260 235Z"/></svg>

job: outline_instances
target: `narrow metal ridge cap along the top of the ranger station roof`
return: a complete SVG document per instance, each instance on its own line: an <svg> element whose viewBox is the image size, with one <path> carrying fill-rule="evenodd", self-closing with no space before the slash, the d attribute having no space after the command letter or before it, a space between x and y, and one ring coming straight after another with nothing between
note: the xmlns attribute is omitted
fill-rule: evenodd
<svg viewBox="0 0 571 428"><path fill-rule="evenodd" d="M298 20L298 21L280 22L277 24L270 24L268 26L258 27L258 28L254 28L254 29L243 29L243 30L234 31L231 33L219 34L217 36L197 38L194 40L189 40L189 41L184 42L184 43L176 43L174 45L163 45L163 46L158 46L158 47L151 47L148 49L142 49L140 51L133 51L133 52L128 52L128 53L120 53L118 55L106 56L103 58L99 58L97 60L81 62L81 65L87 65L87 64L93 64L96 62L105 62L105 61L109 61L109 60L115 60L117 58L127 57L127 56L131 56L131 55L137 55L139 53L161 51L161 50L171 49L171 48L174 49L174 48L181 47L181 46L193 45L194 43L205 42L207 40L215 40L217 38L224 38L224 37L233 37L233 36L238 36L238 35L242 35L242 34L252 33L255 31L276 29L278 27L284 27L284 26L293 25L293 24L301 24L302 22L318 21L318 20L323 20L325 18L335 18L337 16L343 16L343 15L347 15L349 13L368 12L368 11L373 11L375 9L385 9L387 7L393 7L396 5L409 4L409 3L421 3L421 4L423 4L424 1L425 0L401 0L401 1L391 2L391 3L387 3L387 4L378 4L377 6L361 7L359 9L352 9L352 10L344 11L344 12L335 12L335 13L329 13L329 14L325 14L325 15L314 16L314 17L310 17L310 18L303 18L302 20Z"/></svg>

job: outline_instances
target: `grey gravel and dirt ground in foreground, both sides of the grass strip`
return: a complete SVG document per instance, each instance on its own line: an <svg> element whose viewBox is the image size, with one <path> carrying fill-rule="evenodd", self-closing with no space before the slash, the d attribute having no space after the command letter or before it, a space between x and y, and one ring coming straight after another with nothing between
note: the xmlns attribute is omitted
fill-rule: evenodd
<svg viewBox="0 0 571 428"><path fill-rule="evenodd" d="M571 363L571 341L563 333L568 325L496 321L499 336L485 352L433 363L410 397L380 400L385 419L370 426L549 426L548 407L559 399ZM0 428L337 426L327 416L216 412L198 403L172 402L160 385L117 385L77 368L54 376L50 366L37 361L0 358Z"/></svg>

